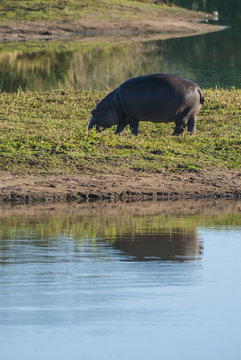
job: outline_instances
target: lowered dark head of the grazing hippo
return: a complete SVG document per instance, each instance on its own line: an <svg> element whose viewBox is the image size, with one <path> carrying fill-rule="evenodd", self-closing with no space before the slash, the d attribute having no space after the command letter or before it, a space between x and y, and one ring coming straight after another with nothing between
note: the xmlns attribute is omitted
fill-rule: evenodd
<svg viewBox="0 0 241 360"><path fill-rule="evenodd" d="M95 126L96 130L100 131L100 128L110 128L111 126L118 124L114 109L109 104L103 104L103 102L99 103L95 109L92 110L91 114L92 118L88 130Z"/></svg>

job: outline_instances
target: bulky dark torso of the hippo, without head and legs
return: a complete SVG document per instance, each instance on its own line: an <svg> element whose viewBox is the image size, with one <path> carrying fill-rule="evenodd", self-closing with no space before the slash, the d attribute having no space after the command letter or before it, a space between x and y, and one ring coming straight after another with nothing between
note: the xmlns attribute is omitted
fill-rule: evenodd
<svg viewBox="0 0 241 360"><path fill-rule="evenodd" d="M185 108L195 112L200 105L201 89L179 76L152 74L127 80L118 92L126 116L139 121L168 122L174 121Z"/></svg>

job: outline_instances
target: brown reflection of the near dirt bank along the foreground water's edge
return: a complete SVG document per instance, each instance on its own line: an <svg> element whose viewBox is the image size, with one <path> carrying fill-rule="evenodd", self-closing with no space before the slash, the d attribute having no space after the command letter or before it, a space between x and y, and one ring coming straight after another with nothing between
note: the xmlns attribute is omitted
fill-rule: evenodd
<svg viewBox="0 0 241 360"><path fill-rule="evenodd" d="M177 200L177 201L132 201L132 202L72 202L72 203L34 203L34 204L4 204L0 207L0 219L18 218L24 221L22 216L35 217L37 221L44 221L56 216L71 216L71 219L81 216L111 216L112 219L121 215L203 215L216 216L220 214L241 213L241 200L227 199L202 199L202 200Z"/></svg>

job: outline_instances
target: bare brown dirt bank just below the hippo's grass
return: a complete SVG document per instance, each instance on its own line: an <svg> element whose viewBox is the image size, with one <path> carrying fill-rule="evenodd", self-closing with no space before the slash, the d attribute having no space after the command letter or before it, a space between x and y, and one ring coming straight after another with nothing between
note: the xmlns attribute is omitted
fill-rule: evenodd
<svg viewBox="0 0 241 360"><path fill-rule="evenodd" d="M0 203L241 198L241 172L19 176L0 172Z"/></svg>

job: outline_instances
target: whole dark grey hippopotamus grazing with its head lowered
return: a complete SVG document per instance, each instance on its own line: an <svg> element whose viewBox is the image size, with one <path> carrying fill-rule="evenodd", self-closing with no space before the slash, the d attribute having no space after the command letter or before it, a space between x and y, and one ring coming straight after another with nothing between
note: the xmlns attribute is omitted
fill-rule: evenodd
<svg viewBox="0 0 241 360"><path fill-rule="evenodd" d="M127 125L138 134L140 121L174 122L173 135L187 127L196 132L196 116L204 96L200 87L190 80L171 74L152 74L127 80L101 100L92 111L88 129L117 125L116 134Z"/></svg>

